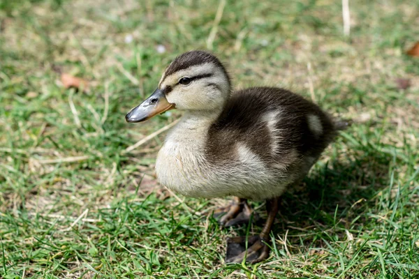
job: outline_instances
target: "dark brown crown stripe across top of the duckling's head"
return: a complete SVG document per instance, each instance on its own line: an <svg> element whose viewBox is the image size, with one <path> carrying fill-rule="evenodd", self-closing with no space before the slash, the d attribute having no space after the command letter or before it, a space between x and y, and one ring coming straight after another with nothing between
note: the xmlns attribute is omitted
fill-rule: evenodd
<svg viewBox="0 0 419 279"><path fill-rule="evenodd" d="M212 63L215 66L221 68L221 70L228 79L228 84L230 84L230 77L228 76L228 73L226 71L226 68L224 68L223 63L221 63L219 59L216 58L216 56L210 54L209 52L204 52L202 50L191 50L190 52L185 52L184 54L180 54L179 56L177 56L175 60L173 60L172 63L170 63L170 65L166 69L165 80L166 77L172 75L173 73L179 70L184 70L186 68L205 63Z"/></svg>

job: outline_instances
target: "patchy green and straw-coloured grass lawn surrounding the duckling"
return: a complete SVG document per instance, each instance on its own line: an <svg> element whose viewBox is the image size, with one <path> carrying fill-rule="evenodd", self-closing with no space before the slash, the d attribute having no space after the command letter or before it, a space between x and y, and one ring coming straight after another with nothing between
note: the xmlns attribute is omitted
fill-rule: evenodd
<svg viewBox="0 0 419 279"><path fill-rule="evenodd" d="M419 60L404 54L418 6L350 1L345 37L340 1L220 3L0 0L1 278L419 277ZM226 237L260 225L221 229L204 213L226 200L156 183L164 133L124 152L180 115L124 114L206 47L236 87L284 86L355 121L284 195L261 264L223 263Z"/></svg>

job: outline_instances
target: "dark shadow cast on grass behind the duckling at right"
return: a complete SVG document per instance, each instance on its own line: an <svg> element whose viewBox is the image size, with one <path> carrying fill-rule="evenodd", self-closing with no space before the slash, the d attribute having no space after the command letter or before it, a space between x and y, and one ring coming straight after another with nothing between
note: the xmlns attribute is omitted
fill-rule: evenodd
<svg viewBox="0 0 419 279"><path fill-rule="evenodd" d="M273 234L288 230L291 243L313 243L320 232L345 234L345 229L368 222L374 196L390 183L392 156L372 150L359 153L348 163L335 160L316 167L300 188L284 193Z"/></svg>

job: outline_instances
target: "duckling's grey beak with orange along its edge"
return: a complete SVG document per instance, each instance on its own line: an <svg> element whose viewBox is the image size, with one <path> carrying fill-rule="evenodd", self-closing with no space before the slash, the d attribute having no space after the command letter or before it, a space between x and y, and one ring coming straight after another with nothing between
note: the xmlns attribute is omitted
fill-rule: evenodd
<svg viewBox="0 0 419 279"><path fill-rule="evenodd" d="M152 96L144 102L134 107L125 116L126 122L141 122L152 118L156 114L161 114L167 110L175 108L175 104L170 104L166 99L165 93L161 89L156 89Z"/></svg>

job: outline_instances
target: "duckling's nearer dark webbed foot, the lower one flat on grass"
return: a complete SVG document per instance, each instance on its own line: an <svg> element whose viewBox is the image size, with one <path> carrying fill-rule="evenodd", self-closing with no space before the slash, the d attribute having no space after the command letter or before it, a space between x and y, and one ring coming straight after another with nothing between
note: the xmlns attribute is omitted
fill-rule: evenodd
<svg viewBox="0 0 419 279"><path fill-rule="evenodd" d="M226 263L239 263L246 257L246 262L255 264L269 257L270 248L267 241L260 236L237 236L227 239Z"/></svg>

